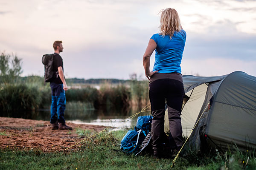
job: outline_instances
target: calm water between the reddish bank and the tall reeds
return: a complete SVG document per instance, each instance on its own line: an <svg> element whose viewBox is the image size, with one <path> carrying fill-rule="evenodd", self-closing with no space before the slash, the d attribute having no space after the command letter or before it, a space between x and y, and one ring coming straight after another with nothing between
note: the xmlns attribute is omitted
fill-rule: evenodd
<svg viewBox="0 0 256 170"><path fill-rule="evenodd" d="M84 111L70 111L66 110L64 117L66 122L72 122L76 124L90 124L90 125L102 125L111 126L117 129L131 129L136 125L137 117L149 115L150 112L140 113L132 119L128 117L134 115L139 111L104 111L104 110L84 110ZM34 119L34 120L50 120L50 110L41 109L39 111L19 111L1 113L0 116L8 116L14 118Z"/></svg>

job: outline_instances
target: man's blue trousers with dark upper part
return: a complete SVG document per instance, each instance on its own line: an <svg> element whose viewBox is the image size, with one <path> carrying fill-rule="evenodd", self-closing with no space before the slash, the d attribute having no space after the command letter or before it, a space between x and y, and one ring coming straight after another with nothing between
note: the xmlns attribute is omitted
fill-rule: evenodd
<svg viewBox="0 0 256 170"><path fill-rule="evenodd" d="M50 123L65 123L64 111L66 108L66 95L63 84L50 83L52 89L51 121Z"/></svg>

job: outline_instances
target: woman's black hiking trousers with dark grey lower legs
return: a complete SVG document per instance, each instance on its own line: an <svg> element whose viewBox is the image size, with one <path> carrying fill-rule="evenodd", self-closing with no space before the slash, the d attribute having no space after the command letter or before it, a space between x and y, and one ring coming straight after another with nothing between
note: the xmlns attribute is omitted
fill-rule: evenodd
<svg viewBox="0 0 256 170"><path fill-rule="evenodd" d="M157 79L149 84L149 99L151 102L152 120L152 147L158 150L164 137L165 103L168 105L168 117L170 127L170 142L173 148L181 147L181 107L183 103L183 82L176 79ZM173 141L173 142L172 142Z"/></svg>

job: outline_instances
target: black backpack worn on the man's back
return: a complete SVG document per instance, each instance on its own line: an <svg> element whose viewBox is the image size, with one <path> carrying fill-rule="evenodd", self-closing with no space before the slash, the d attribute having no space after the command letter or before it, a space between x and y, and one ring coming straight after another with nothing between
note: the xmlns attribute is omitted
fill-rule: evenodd
<svg viewBox="0 0 256 170"><path fill-rule="evenodd" d="M51 82L51 80L58 75L58 71L53 71L53 56L54 54L44 54L42 63L44 64L44 82Z"/></svg>

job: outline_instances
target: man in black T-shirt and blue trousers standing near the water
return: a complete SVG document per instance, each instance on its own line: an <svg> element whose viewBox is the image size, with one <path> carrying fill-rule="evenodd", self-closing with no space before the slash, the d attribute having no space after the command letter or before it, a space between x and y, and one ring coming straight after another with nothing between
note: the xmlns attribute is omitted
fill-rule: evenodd
<svg viewBox="0 0 256 170"><path fill-rule="evenodd" d="M53 71L56 73L56 77L50 81L52 89L52 105L51 105L51 121L52 130L72 130L65 123L64 111L66 108L66 96L67 83L64 77L63 61L60 52L63 51L62 41L55 41L53 43ZM58 116L58 117L57 117Z"/></svg>

